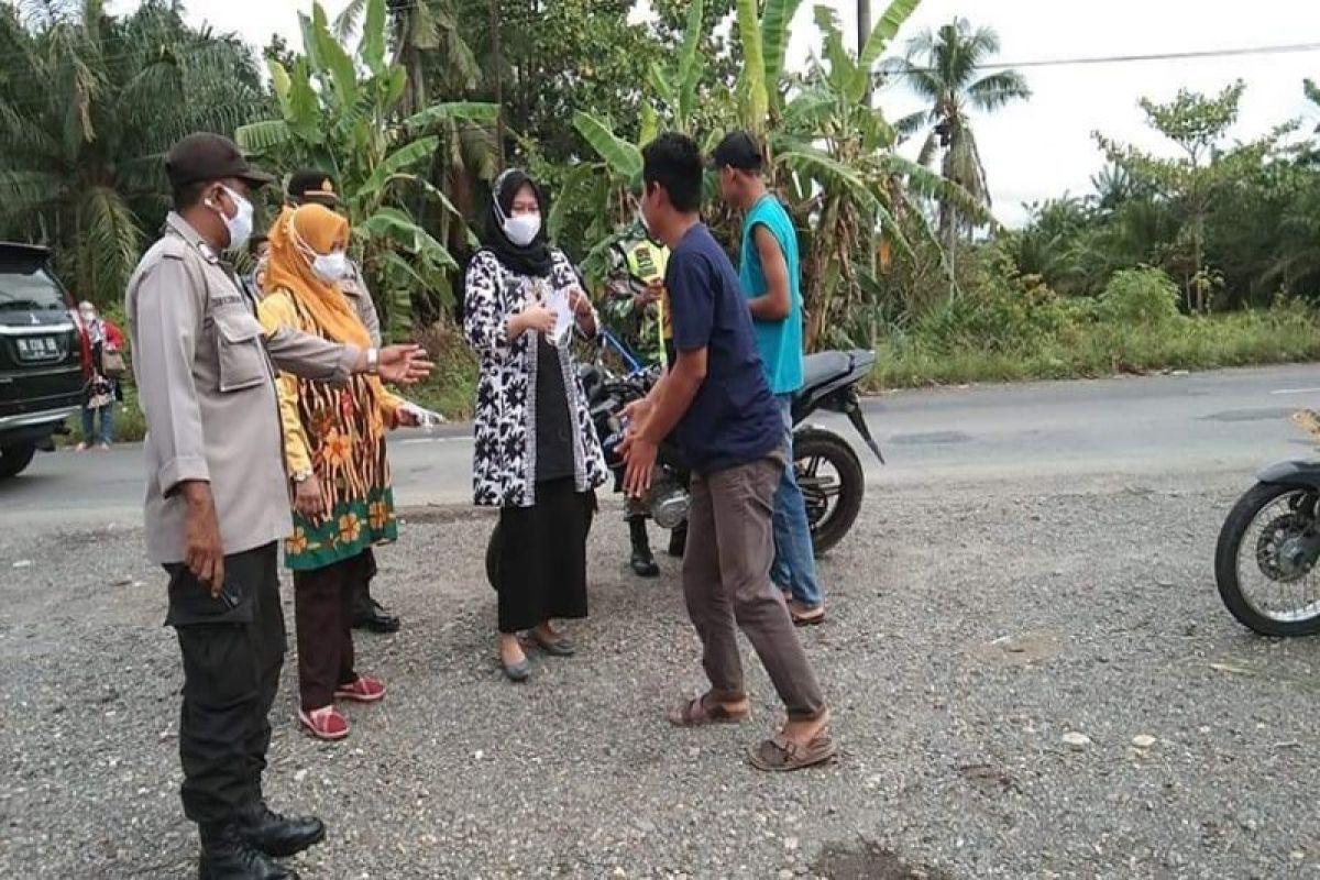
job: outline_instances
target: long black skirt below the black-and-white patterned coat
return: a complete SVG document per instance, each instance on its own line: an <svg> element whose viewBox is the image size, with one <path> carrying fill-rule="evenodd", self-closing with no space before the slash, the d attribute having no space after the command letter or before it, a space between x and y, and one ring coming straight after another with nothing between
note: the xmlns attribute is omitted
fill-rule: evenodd
<svg viewBox="0 0 1320 880"><path fill-rule="evenodd" d="M499 512L499 631L586 616L586 534L595 493L573 478L536 484L533 507Z"/></svg>

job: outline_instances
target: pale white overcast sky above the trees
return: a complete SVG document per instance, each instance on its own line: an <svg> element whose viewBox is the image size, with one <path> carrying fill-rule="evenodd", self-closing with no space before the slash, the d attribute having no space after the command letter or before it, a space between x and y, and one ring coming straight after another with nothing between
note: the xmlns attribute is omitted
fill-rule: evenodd
<svg viewBox="0 0 1320 880"><path fill-rule="evenodd" d="M820 1L838 9L855 45L855 0ZM325 7L333 17L346 3L327 0ZM112 0L108 5L123 12L137 3ZM805 0L793 21L789 65L801 66L818 51L813 5L816 0ZM873 15L884 5L886 0L873 0ZM190 0L186 7L194 22L235 32L256 46L276 32L297 46L297 13L310 9L312 0ZM1320 3L1313 0L1246 5L1236 0L924 0L899 33L895 50L920 30L956 16L997 30L998 61L1010 63L1320 44ZM1320 50L1023 73L1034 92L1030 102L974 119L994 212L1010 226L1024 218L1023 203L1090 191L1090 177L1102 165L1092 137L1097 129L1168 153L1167 141L1144 124L1137 104L1143 95L1166 100L1180 87L1214 92L1241 78L1247 91L1233 137L1251 140L1294 117L1307 121L1305 131L1320 124L1320 112L1302 94L1303 78L1320 80ZM920 107L902 86L887 87L878 100L890 119Z"/></svg>

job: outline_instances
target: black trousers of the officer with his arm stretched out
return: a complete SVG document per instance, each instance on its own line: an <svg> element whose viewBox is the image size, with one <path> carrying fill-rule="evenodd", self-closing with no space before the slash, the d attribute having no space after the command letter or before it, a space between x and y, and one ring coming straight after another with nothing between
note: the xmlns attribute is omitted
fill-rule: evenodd
<svg viewBox="0 0 1320 880"><path fill-rule="evenodd" d="M219 598L186 566L166 566L165 623L178 633L183 654L180 794L193 822L228 822L261 798L269 712L286 645L277 566L275 544L224 557Z"/></svg>

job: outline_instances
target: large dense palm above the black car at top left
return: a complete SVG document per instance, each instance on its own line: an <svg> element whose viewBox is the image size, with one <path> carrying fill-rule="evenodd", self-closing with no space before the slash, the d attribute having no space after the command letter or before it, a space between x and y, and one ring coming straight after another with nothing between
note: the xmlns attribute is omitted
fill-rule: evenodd
<svg viewBox="0 0 1320 880"><path fill-rule="evenodd" d="M265 99L248 50L166 0L124 18L102 0L38 12L25 26L0 7L0 236L53 247L77 296L104 303L168 210L170 144L232 132Z"/></svg>

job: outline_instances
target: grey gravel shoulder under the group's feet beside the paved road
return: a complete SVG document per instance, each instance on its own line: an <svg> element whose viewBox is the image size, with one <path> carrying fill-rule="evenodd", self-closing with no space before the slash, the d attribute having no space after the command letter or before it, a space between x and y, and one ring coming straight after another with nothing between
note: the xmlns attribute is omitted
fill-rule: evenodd
<svg viewBox="0 0 1320 880"><path fill-rule="evenodd" d="M628 574L616 507L583 653L520 687L494 664L492 520L417 512L379 553L405 628L358 639L389 697L318 744L290 657L269 794L330 825L306 877L1320 876L1320 643L1253 637L1214 592L1242 488L873 486L804 633L843 753L787 777L744 761L779 716L754 658L748 724L665 723L697 643L676 563ZM190 876L164 579L136 528L25 530L0 536L0 876Z"/></svg>

